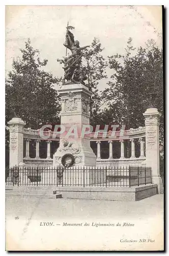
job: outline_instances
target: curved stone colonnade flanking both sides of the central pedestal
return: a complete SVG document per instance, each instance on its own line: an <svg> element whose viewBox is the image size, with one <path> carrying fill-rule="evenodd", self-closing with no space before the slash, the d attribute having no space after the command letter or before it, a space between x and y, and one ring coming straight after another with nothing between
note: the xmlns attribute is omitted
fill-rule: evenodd
<svg viewBox="0 0 169 256"><path fill-rule="evenodd" d="M134 163L140 163L143 162L143 160L146 159L145 153L144 153L144 138L146 136L146 130L145 127L139 127L138 129L130 129L130 130L121 130L121 131L116 131L116 132L103 132L103 133L98 133L97 138L95 137L95 133L90 134L90 140L96 142L97 144L97 164L115 164L117 161L123 162L126 161L126 164L129 163L129 159L134 161ZM50 143L51 141L59 141L60 136L58 133L51 132L51 131L44 131L43 132L44 136L47 136L49 139L45 140L40 137L40 131L39 130L31 130L31 129L23 129L23 137L26 140L26 155L23 159L24 162L27 162L27 160L30 159L29 156L29 144L31 140L36 141L36 157L31 158L33 160L33 163L38 164L39 161L44 162L44 161L50 161L52 160L50 157ZM140 156L139 158L135 157L135 139L139 139L140 143ZM47 158L42 159L39 157L39 142L45 140L46 141L46 151L47 151ZM124 156L124 142L128 140L131 143L131 156L130 158L125 158ZM108 159L101 159L101 141L108 141L109 143L109 158ZM114 159L113 158L113 144L115 141L118 141L120 143L121 147L121 156L120 158ZM29 161L30 163L30 161Z"/></svg>

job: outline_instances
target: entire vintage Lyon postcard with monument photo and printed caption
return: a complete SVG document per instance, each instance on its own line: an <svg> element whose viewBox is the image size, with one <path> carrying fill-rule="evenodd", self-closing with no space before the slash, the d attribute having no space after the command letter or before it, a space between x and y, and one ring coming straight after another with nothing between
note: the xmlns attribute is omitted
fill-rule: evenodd
<svg viewBox="0 0 169 256"><path fill-rule="evenodd" d="M163 251L162 6L6 6L6 250Z"/></svg>

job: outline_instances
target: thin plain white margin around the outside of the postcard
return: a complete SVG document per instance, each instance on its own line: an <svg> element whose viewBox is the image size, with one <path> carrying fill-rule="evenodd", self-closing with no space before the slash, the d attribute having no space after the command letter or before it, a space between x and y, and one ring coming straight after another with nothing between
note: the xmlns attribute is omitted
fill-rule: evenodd
<svg viewBox="0 0 169 256"><path fill-rule="evenodd" d="M2 202L1 202L1 226L0 226L0 230L1 230L1 243L0 243L0 251L1 251L1 255L4 255L6 254L7 252L5 252L5 208L3 208L3 206L5 206L5 148L4 148L4 144L5 144L5 125L4 125L4 122L5 122L5 5L164 5L165 8L168 9L169 7L169 4L168 4L168 0L167 1L158 1L158 0L154 0L154 1L150 1L150 0L142 0L142 1L136 1L136 0L133 0L133 1L124 1L124 0L118 0L118 1L112 1L112 0L104 0L104 1L92 1L92 0L86 0L86 1L65 1L65 0L62 0L62 1L52 1L52 0L48 0L48 1L44 1L44 0L41 0L41 1L37 1L37 0L29 0L29 1L21 1L21 0L18 0L18 1L2 1L1 4L0 4L0 12L1 12L1 15L0 15L0 18L1 18L1 94L0 94L0 103L1 103L1 126L0 126L0 129L1 129L1 136L2 136L2 140L1 140L1 147L0 147L0 150L1 150L1 154L0 154L0 159L1 159L1 162L0 162L0 166L1 166L1 181L2 181L2 184L0 186L1 188L1 199L2 199ZM168 10L167 10L167 13L168 13ZM167 18L167 17L166 17ZM166 40L168 39L168 27L169 27L169 24L168 24L168 20L166 19ZM167 40L168 42L168 40ZM167 44L166 44L167 46ZM166 62L168 62L168 51L166 49ZM165 87L166 87L166 104L165 104L165 119L166 119L166 123L165 123L165 127L166 127L166 130L165 130L165 136L167 136L167 132L168 132L168 129L169 129L169 117L168 117L168 104L167 104L167 99L169 98L168 96L168 92L169 90L167 90L167 78L168 78L168 74L169 74L169 70L168 70L168 66L166 67L166 70L165 70L165 73L166 73L166 79L165 79ZM169 138L167 137L166 138L166 142L167 144L169 144ZM166 145L166 143L165 143ZM169 151L166 151L166 159L169 159ZM167 161L167 160L166 160ZM165 166L165 172L167 174L168 172L168 168L167 168L167 162L166 162L166 166ZM166 184L169 184L168 182L168 176L167 175L167 180L165 181ZM167 185L166 185L167 187ZM168 205L168 197L167 195L165 195L165 197L167 198L166 200L166 205ZM4 209L4 210L3 210ZM167 212L167 209L166 209L166 212ZM166 228L166 233L168 231L168 226ZM167 244L168 244L168 236L166 237L166 249L167 249ZM116 253L116 252L113 252L113 253ZM144 252L143 252L144 253ZM20 253L19 253L20 254ZM22 253L21 253L22 254ZM34 254L34 253L33 253ZM41 253L40 253L41 254ZM89 253L88 253L89 254ZM144 254L148 254L148 253L144 253Z"/></svg>

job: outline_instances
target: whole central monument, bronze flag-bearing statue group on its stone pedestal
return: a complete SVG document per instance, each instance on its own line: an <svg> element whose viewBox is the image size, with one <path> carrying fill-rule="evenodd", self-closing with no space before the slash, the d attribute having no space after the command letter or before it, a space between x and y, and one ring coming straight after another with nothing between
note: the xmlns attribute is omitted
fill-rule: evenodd
<svg viewBox="0 0 169 256"><path fill-rule="evenodd" d="M95 166L96 156L90 146L90 109L89 102L92 93L89 91L83 74L81 58L82 50L89 46L80 47L79 41L74 40L70 32L72 26L67 26L66 41L63 44L71 51L64 60L64 81L58 90L61 96L61 127L65 127L60 137L60 146L53 156L53 166L68 163L73 158L75 166ZM85 134L86 133L86 134Z"/></svg>

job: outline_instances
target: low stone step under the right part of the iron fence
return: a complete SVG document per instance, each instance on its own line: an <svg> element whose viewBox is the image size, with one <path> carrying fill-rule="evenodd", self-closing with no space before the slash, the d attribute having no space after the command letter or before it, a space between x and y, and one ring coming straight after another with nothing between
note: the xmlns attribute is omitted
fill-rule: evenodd
<svg viewBox="0 0 169 256"><path fill-rule="evenodd" d="M62 194L63 198L94 199L112 201L139 201L157 194L157 185L139 187L57 187L53 194Z"/></svg>

